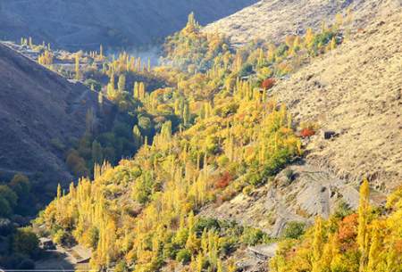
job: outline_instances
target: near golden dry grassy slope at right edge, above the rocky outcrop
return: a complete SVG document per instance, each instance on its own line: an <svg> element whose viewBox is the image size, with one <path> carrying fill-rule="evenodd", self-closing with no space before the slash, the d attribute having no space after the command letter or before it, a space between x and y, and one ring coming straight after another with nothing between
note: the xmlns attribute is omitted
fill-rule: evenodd
<svg viewBox="0 0 402 272"><path fill-rule="evenodd" d="M309 161L351 181L367 175L379 189L401 184L401 9L282 81L272 94L297 120L340 131L330 141L314 136Z"/></svg>

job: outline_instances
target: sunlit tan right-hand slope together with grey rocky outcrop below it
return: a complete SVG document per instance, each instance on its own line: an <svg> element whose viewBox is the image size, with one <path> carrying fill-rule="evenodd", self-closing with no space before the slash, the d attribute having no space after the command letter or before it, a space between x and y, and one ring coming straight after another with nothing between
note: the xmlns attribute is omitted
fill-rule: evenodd
<svg viewBox="0 0 402 272"><path fill-rule="evenodd" d="M288 106L297 124L318 126L304 143L306 160L283 170L273 185L201 214L278 235L285 221L308 221L317 214L328 218L340 199L356 209L363 177L378 190L373 202L381 203L381 191L402 180L401 41L402 12L396 9L281 80L270 96ZM336 135L324 139L325 131Z"/></svg>

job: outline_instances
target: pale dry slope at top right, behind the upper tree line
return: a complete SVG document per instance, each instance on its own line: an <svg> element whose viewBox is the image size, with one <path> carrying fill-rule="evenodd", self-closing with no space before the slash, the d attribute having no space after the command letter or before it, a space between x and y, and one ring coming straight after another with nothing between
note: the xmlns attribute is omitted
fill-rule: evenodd
<svg viewBox="0 0 402 272"><path fill-rule="evenodd" d="M332 21L348 7L353 11L355 25L363 26L374 15L400 3L401 0L262 0L207 25L205 31L224 33L233 44L244 44L255 38L276 42L297 30L319 29L322 21Z"/></svg>

